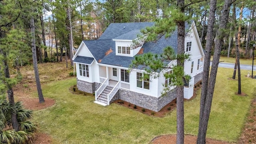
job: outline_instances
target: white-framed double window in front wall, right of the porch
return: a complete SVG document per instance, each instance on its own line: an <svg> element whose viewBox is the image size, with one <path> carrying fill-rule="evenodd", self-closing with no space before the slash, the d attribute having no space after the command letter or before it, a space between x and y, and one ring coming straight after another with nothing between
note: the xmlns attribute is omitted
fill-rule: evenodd
<svg viewBox="0 0 256 144"><path fill-rule="evenodd" d="M150 88L149 74L143 74L141 72L137 72L137 87L148 89Z"/></svg>

